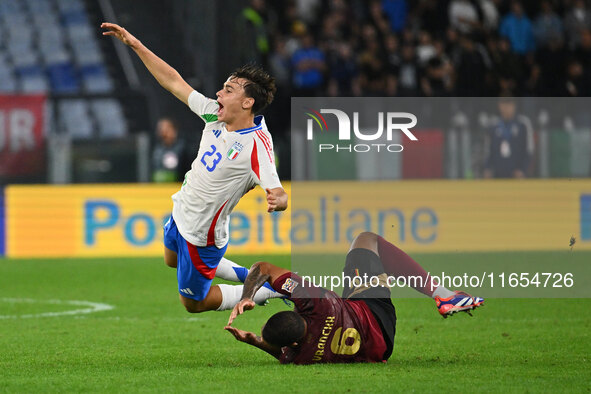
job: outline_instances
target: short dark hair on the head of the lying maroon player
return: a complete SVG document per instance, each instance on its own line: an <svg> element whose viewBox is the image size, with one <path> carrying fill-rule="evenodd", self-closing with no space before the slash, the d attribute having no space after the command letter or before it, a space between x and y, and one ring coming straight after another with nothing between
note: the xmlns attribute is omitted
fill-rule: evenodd
<svg viewBox="0 0 591 394"><path fill-rule="evenodd" d="M283 347L299 342L305 334L304 319L295 312L283 311L267 320L261 336L265 342Z"/></svg>

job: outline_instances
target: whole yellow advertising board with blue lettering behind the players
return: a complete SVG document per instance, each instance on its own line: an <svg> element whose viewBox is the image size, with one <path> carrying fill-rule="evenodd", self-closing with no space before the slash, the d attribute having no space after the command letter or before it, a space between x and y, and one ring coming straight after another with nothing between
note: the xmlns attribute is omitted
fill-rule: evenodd
<svg viewBox="0 0 591 394"><path fill-rule="evenodd" d="M556 250L567 248L571 236L577 238L576 248L591 249L591 219L584 219L591 218L588 180L294 182L285 187L287 212L266 213L260 188L242 198L230 221L231 253L289 253L292 247L343 253L361 231L378 232L410 252ZM162 224L178 188L9 186L7 255L159 256Z"/></svg>

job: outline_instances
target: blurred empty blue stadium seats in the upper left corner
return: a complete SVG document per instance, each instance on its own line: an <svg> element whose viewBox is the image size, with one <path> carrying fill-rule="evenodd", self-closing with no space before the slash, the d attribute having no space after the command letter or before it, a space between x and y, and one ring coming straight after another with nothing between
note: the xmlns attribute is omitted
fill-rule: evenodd
<svg viewBox="0 0 591 394"><path fill-rule="evenodd" d="M122 137L123 109L82 0L0 0L0 94L49 93L59 127L75 138ZM94 95L92 99L77 97ZM69 97L68 97L69 96Z"/></svg>

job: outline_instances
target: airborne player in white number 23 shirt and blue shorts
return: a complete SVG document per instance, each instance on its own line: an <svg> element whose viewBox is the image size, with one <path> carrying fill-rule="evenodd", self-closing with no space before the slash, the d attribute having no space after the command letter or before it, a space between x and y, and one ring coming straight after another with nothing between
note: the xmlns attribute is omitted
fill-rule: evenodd
<svg viewBox="0 0 591 394"><path fill-rule="evenodd" d="M181 189L172 196L172 216L164 226L164 261L177 269L181 303L187 311L232 309L242 285L211 286L214 276L243 282L248 269L223 258L228 244L229 215L256 185L267 194L267 211L287 209L273 153L273 140L263 116L273 101L275 80L248 65L230 75L217 99L195 91L179 73L114 23L103 23L105 36L129 46L158 83L187 104L204 122L197 157ZM282 297L267 286L251 298L257 303Z"/></svg>

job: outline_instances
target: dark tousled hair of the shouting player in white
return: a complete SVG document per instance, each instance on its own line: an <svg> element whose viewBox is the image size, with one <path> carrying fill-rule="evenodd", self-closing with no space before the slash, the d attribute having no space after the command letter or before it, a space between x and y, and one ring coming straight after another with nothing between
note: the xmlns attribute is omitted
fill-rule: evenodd
<svg viewBox="0 0 591 394"><path fill-rule="evenodd" d="M254 114L265 109L273 101L277 91L275 78L270 76L262 67L256 64L246 64L230 74L230 79L234 78L244 78L248 81L243 88L246 96L254 99L252 106Z"/></svg>

